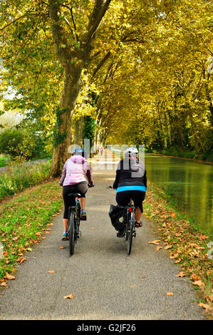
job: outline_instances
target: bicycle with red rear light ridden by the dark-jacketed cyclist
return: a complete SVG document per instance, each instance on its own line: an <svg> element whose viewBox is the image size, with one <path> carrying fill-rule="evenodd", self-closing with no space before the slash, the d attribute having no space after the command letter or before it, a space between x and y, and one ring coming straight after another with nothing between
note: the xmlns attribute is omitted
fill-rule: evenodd
<svg viewBox="0 0 213 335"><path fill-rule="evenodd" d="M113 188L113 186L109 186L108 188ZM133 237L136 237L135 232L135 205L133 199L130 199L128 206L125 206L126 215L124 222L124 236L126 241L128 242L128 254L131 253Z"/></svg>

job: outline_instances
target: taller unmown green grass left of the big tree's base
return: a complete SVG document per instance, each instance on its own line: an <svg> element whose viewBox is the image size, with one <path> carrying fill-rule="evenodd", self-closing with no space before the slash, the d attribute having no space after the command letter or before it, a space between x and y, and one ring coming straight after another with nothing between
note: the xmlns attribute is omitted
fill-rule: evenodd
<svg viewBox="0 0 213 335"><path fill-rule="evenodd" d="M32 165L11 166L0 175L0 200L27 187L37 185L51 175L51 160Z"/></svg>

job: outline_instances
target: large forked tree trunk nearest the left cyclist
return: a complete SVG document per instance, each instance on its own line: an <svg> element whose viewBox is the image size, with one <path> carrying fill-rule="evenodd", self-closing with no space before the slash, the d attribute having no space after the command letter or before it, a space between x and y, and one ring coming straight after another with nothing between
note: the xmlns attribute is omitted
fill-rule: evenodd
<svg viewBox="0 0 213 335"><path fill-rule="evenodd" d="M52 24L53 41L56 56L64 67L64 86L59 108L53 151L53 176L58 177L63 164L68 158L68 147L71 145L71 120L73 110L80 92L80 75L83 68L90 63L90 53L94 48L95 33L105 15L111 0L95 0L88 26L80 43L80 50L71 46L66 38L60 16L61 1L49 0L49 16Z"/></svg>

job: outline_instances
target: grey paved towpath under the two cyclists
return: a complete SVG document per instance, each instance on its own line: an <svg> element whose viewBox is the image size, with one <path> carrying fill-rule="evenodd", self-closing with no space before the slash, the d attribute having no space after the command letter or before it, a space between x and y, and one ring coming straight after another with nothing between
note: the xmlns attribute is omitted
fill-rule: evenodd
<svg viewBox="0 0 213 335"><path fill-rule="evenodd" d="M51 233L26 254L16 279L0 290L1 320L204 319L189 279L176 277L180 267L167 250L148 243L157 235L145 217L128 256L125 239L116 237L108 217L115 191L106 187L115 170L101 170L103 166L93 162L95 187L87 193L88 220L80 224L82 237L73 257L68 256L68 242L61 241L61 212L53 218ZM69 294L73 299L63 299Z"/></svg>

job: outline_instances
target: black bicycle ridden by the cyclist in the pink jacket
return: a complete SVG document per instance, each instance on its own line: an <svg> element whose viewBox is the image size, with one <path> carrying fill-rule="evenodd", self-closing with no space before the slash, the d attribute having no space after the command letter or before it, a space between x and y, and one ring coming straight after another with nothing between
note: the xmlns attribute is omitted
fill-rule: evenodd
<svg viewBox="0 0 213 335"><path fill-rule="evenodd" d="M68 209L68 241L69 241L69 254L74 253L75 244L77 239L81 237L79 230L80 226L80 193L71 193L68 195L71 201L71 206Z"/></svg>

